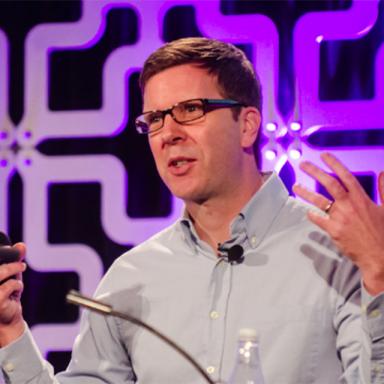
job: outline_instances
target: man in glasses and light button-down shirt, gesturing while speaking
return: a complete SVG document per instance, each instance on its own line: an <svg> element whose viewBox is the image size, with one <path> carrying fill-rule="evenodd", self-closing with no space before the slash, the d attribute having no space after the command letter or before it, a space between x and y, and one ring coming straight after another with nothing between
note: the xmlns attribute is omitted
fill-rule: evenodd
<svg viewBox="0 0 384 384"><path fill-rule="evenodd" d="M260 86L235 47L174 41L146 61L141 86L137 129L148 134L157 169L185 213L117 259L96 296L184 346L214 381L228 379L237 332L252 327L267 384L382 383L384 208L330 154L323 159L340 181L310 163L302 169L334 202L295 187L327 214L259 172ZM380 193L384 199L383 175ZM23 270L22 263L1 266L0 279ZM7 382L203 382L146 331L90 313L67 371L54 378L12 300L21 290L20 280L0 287Z"/></svg>

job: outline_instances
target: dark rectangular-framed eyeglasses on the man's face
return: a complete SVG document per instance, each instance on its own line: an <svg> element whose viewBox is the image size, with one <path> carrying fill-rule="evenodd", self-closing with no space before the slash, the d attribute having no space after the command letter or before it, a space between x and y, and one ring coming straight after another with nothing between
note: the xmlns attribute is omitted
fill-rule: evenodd
<svg viewBox="0 0 384 384"><path fill-rule="evenodd" d="M230 99L192 99L181 101L162 111L149 111L140 115L136 130L141 134L151 134L163 128L166 115L179 124L187 124L203 117L206 113L220 108L245 107L245 104Z"/></svg>

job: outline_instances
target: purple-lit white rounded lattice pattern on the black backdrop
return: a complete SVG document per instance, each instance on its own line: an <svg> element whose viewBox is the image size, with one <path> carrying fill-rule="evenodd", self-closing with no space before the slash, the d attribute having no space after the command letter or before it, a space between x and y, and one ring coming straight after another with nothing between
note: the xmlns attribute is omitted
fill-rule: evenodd
<svg viewBox="0 0 384 384"><path fill-rule="evenodd" d="M252 46L253 63L263 84L264 123L277 126L278 156L265 161L266 169L280 170L288 155L277 139L284 135L301 142L302 159L319 163L319 149L305 143L315 130L380 129L384 126L384 44L376 56L375 99L369 101L324 102L318 98L320 41L359 39L370 31L378 13L378 0L354 1L346 11L313 12L303 16L294 30L296 101L294 115L284 121L277 106L279 75L279 36L273 21L262 14L226 16L220 1L107 1L82 3L77 22L47 23L33 28L25 42L24 116L16 130L8 117L8 42L0 30L0 229L7 231L7 183L17 168L23 181L23 239L28 245L28 263L36 271L74 271L80 290L92 294L103 273L100 256L85 244L49 244L48 191L54 184L98 183L101 186L101 223L106 235L117 243L138 244L180 214L182 203L173 198L169 217L131 218L126 212L129 174L112 155L45 156L36 146L50 138L109 137L118 135L129 118L126 79L141 68L145 58L163 44L163 20L178 5L193 6L196 24L206 37ZM115 49L102 71L102 107L95 110L51 111L48 108L49 59L53 51L86 49L103 35L108 11L127 7L139 19L137 43ZM369 116L369 118L367 118ZM291 122L303 129L292 132ZM264 125L265 125L264 124ZM13 158L10 144L17 134L21 147ZM3 137L6 135L6 137ZM333 150L355 173L376 175L383 168L383 148ZM5 161L7 164L5 164ZM1 163L1 161L3 161ZM297 161L290 160L295 171ZM309 186L313 181L300 172L297 180ZM78 323L36 325L37 343L44 353L69 350Z"/></svg>

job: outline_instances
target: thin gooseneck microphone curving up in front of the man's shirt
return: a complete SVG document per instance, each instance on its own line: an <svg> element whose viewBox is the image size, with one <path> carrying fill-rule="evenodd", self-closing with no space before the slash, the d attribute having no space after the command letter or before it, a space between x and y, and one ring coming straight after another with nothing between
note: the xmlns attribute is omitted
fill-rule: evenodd
<svg viewBox="0 0 384 384"><path fill-rule="evenodd" d="M143 327L153 335L157 336L159 339L163 340L166 344L176 350L180 355L182 355L187 361L189 361L193 367L204 377L207 383L209 384L219 384L215 383L204 371L204 369L199 365L199 363L183 348L177 345L173 340L169 337L162 334L157 329L153 328L149 324L144 321L138 319L137 317L131 316L127 313L115 311L112 306L103 303L102 301L94 300L84 295L81 295L79 292L75 290L71 290L68 292L66 296L67 302L71 304L78 305L79 307L87 308L91 311L98 312L103 316L113 316L118 317L120 319L131 322L132 324Z"/></svg>

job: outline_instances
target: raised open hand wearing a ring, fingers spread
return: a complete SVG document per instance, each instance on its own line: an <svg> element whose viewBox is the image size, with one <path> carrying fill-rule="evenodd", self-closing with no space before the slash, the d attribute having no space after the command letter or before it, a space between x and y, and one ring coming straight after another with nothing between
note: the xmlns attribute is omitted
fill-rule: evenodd
<svg viewBox="0 0 384 384"><path fill-rule="evenodd" d="M384 292L384 172L379 175L377 205L335 156L324 153L321 159L339 180L308 161L300 168L322 184L333 201L299 184L293 190L326 213L310 211L308 217L360 268L367 290L373 295Z"/></svg>

